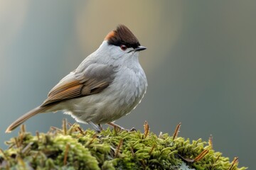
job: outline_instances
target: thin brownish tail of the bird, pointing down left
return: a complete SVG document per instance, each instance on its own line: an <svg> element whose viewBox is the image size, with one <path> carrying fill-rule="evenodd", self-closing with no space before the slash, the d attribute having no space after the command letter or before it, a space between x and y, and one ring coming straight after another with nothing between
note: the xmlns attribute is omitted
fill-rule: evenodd
<svg viewBox="0 0 256 170"><path fill-rule="evenodd" d="M11 132L15 128L17 128L19 125L21 125L23 122L31 118L33 115L36 115L38 113L43 113L48 109L47 106L38 106L37 108L34 108L33 110L29 111L28 113L21 115L20 118L15 120L9 127L6 129L6 133Z"/></svg>

